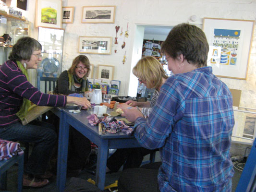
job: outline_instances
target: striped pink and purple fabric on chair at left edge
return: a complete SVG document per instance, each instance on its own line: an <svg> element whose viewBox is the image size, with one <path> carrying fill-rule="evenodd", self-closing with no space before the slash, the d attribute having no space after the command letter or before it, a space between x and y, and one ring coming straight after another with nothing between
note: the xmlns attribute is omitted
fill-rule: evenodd
<svg viewBox="0 0 256 192"><path fill-rule="evenodd" d="M0 161L23 153L19 143L0 139Z"/></svg>

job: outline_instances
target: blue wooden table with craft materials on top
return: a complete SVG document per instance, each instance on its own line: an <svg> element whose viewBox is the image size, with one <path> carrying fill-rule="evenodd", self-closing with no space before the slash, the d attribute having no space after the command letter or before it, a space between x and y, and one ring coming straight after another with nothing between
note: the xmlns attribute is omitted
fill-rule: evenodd
<svg viewBox="0 0 256 192"><path fill-rule="evenodd" d="M116 134L99 134L98 125L91 126L87 120L90 110L82 110L81 113L70 113L66 108L53 108L51 111L60 117L57 190L63 192L66 183L67 155L69 125L81 132L90 141L98 145L96 185L100 190L104 189L106 165L109 149L140 147L134 136L128 136L123 132Z"/></svg>

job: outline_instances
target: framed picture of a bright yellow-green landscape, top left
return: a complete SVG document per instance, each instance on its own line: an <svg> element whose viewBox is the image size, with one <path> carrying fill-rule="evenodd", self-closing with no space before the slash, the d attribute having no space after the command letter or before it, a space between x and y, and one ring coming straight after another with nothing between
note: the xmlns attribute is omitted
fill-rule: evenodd
<svg viewBox="0 0 256 192"><path fill-rule="evenodd" d="M61 0L37 0L36 27L61 28Z"/></svg>

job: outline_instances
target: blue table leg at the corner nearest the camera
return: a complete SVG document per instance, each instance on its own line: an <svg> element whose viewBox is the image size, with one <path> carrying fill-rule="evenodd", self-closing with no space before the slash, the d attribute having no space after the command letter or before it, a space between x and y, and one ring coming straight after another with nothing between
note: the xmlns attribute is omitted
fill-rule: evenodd
<svg viewBox="0 0 256 192"><path fill-rule="evenodd" d="M100 190L104 190L106 166L108 158L108 139L101 139L98 145L97 169L96 169L96 185Z"/></svg>

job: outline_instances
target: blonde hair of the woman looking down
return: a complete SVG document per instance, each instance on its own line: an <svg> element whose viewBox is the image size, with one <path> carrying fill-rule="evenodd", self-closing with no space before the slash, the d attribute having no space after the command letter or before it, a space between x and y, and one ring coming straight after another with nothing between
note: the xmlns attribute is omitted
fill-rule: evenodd
<svg viewBox="0 0 256 192"><path fill-rule="evenodd" d="M133 68L133 73L139 79L146 81L150 89L162 84L162 78L168 78L161 63L152 56L140 59Z"/></svg>

